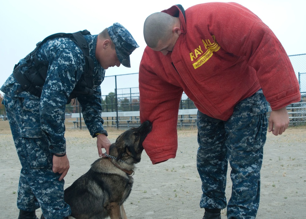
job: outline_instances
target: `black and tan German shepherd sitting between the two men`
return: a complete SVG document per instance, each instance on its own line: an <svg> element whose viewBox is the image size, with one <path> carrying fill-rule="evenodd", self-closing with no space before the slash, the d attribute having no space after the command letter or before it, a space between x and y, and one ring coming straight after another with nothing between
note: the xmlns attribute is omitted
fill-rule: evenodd
<svg viewBox="0 0 306 219"><path fill-rule="evenodd" d="M122 133L106 158L97 159L87 173L65 189L64 199L72 217L126 218L122 204L132 190L133 169L140 162L142 143L151 129L151 122L146 121Z"/></svg>

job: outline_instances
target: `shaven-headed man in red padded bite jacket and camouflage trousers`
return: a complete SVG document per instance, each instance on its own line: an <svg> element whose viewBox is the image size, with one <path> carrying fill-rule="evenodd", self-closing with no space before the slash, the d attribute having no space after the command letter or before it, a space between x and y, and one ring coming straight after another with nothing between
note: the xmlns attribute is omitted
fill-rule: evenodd
<svg viewBox="0 0 306 219"><path fill-rule="evenodd" d="M197 168L205 219L255 218L263 145L289 125L286 106L300 101L290 60L272 31L237 3L175 5L144 23L140 119L153 122L144 149L153 164L174 158L183 91L198 109ZM157 137L158 136L158 137ZM226 201L230 162L232 195Z"/></svg>

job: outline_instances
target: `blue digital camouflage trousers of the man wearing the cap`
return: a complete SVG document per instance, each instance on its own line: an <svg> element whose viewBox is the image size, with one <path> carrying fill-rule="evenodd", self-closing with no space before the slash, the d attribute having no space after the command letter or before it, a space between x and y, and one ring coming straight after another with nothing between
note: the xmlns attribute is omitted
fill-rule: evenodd
<svg viewBox="0 0 306 219"><path fill-rule="evenodd" d="M33 211L41 207L46 219L61 219L70 215L64 202L64 180L52 171L52 153L47 136L41 130L39 99L3 98L13 140L21 162L17 207Z"/></svg>

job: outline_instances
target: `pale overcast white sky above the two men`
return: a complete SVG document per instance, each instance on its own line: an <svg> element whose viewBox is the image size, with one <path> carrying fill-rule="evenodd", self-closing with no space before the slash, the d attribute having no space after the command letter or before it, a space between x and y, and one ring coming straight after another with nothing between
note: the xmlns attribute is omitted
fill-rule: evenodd
<svg viewBox="0 0 306 219"><path fill-rule="evenodd" d="M218 0L219 2L228 2ZM141 2L141 3L140 3ZM53 33L73 33L87 29L98 34L118 22L129 30L140 48L131 58L131 68L111 67L106 76L137 73L146 46L144 20L151 13L181 4L185 10L211 2L199 0L3 0L0 3L0 86L13 67L35 48L35 44ZM306 1L304 0L234 0L265 22L275 33L288 55L306 53Z"/></svg>

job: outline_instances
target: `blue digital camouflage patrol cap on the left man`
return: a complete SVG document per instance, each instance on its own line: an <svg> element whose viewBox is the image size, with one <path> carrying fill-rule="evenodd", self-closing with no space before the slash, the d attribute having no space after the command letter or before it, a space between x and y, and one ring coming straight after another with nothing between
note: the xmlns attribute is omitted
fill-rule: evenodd
<svg viewBox="0 0 306 219"><path fill-rule="evenodd" d="M130 55L139 45L130 32L119 23L114 23L107 29L107 32L115 44L118 60L125 67L131 67Z"/></svg>

